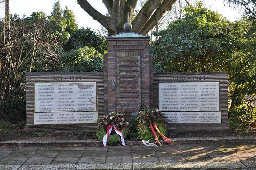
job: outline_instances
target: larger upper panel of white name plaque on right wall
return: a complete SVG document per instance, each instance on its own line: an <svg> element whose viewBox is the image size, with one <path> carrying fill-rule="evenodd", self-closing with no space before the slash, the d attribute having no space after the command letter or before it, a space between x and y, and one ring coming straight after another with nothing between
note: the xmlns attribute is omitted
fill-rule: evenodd
<svg viewBox="0 0 256 170"><path fill-rule="evenodd" d="M219 82L159 83L160 111L219 111Z"/></svg>

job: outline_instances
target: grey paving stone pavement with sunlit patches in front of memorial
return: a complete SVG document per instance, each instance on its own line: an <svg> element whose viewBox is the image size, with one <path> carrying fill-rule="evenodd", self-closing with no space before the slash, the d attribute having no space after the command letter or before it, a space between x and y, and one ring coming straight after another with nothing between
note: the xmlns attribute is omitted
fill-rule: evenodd
<svg viewBox="0 0 256 170"><path fill-rule="evenodd" d="M255 143L0 147L0 169L256 169Z"/></svg>

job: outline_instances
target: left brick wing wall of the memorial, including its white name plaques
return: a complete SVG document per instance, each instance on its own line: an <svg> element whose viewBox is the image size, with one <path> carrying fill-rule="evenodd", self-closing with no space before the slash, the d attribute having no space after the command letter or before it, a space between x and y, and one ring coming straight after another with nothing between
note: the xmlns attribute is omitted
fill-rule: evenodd
<svg viewBox="0 0 256 170"><path fill-rule="evenodd" d="M103 73L28 72L26 131L95 131L104 114Z"/></svg>

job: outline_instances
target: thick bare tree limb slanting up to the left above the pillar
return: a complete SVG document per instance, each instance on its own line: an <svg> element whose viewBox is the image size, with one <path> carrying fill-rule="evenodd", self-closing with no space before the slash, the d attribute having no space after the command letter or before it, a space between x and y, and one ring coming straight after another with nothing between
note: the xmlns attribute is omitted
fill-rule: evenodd
<svg viewBox="0 0 256 170"><path fill-rule="evenodd" d="M116 32L116 28L111 22L111 17L102 15L96 9L94 9L87 0L77 0L80 7L86 11L94 20L97 20L103 27L105 27L109 32Z"/></svg>

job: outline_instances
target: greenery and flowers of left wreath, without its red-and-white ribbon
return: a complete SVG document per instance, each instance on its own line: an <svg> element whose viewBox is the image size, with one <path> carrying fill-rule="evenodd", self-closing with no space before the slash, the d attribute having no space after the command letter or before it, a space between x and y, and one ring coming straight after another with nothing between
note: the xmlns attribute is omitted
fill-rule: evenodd
<svg viewBox="0 0 256 170"><path fill-rule="evenodd" d="M127 128L129 125L127 119L122 113L111 112L108 115L98 118L96 136L100 141L102 141L106 134L109 125L114 125L116 129L122 132L124 138L127 137L129 132L129 129ZM113 129L106 142L108 145L118 145L121 142L121 137L118 134L115 134L115 130Z"/></svg>

